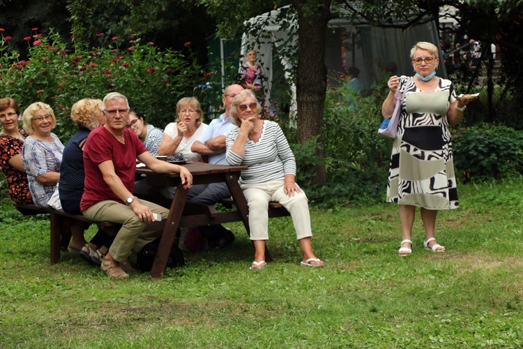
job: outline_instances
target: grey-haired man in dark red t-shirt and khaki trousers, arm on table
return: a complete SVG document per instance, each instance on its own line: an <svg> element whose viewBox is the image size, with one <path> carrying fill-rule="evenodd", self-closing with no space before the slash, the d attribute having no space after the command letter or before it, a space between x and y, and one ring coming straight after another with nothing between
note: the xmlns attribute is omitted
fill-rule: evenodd
<svg viewBox="0 0 523 349"><path fill-rule="evenodd" d="M91 221L109 221L122 225L101 269L115 279L128 278L121 263L127 262L132 248L139 252L161 235L161 231L144 232L154 221L153 213L167 218L169 210L132 195L135 185L136 159L153 172L179 172L181 184L192 184L190 172L179 165L154 158L128 130L129 103L117 92L103 99L106 124L89 133L84 147L85 189L80 209Z"/></svg>

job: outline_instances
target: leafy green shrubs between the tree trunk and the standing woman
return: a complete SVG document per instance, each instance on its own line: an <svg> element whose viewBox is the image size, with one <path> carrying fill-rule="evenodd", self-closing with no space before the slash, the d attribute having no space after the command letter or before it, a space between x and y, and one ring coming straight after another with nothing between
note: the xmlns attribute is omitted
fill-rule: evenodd
<svg viewBox="0 0 523 349"><path fill-rule="evenodd" d="M350 96L353 105L347 103ZM298 181L312 205L330 208L383 200L392 140L377 133L381 123L379 92L353 96L344 85L328 90L323 126L324 163L327 181L314 185L314 154L317 138L306 144L291 144L298 164ZM292 135L287 132L287 138Z"/></svg>

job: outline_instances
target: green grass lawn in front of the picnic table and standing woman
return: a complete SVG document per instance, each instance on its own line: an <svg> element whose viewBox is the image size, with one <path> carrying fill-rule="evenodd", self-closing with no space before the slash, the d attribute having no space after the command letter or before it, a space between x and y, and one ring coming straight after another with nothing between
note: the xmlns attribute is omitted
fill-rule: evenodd
<svg viewBox="0 0 523 349"><path fill-rule="evenodd" d="M460 209L437 219L446 253L423 248L418 214L397 256L396 205L313 208L325 268L301 267L290 218L275 218L262 271L230 224L232 246L126 281L65 252L50 265L47 218L3 200L0 348L521 348L522 182L458 189Z"/></svg>

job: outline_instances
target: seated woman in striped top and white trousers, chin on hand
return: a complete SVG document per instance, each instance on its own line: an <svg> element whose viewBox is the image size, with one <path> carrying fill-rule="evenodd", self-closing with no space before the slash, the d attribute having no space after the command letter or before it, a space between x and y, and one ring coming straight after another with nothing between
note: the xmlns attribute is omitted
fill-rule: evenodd
<svg viewBox="0 0 523 349"><path fill-rule="evenodd" d="M255 260L250 269L265 268L268 240L268 202L278 201L290 212L305 267L323 267L312 251L308 199L296 184L296 161L282 129L260 119L261 106L254 92L245 89L232 100L230 117L237 128L227 133L227 162L245 165L240 184L249 207L250 239Z"/></svg>

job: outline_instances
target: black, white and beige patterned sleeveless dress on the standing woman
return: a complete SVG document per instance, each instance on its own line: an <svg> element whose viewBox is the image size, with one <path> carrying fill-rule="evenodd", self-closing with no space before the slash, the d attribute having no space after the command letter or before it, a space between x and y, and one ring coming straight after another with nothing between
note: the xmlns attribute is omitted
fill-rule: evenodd
<svg viewBox="0 0 523 349"><path fill-rule="evenodd" d="M420 91L411 78L388 172L387 201L426 209L456 209L457 189L447 111L456 99L450 80L434 91Z"/></svg>

